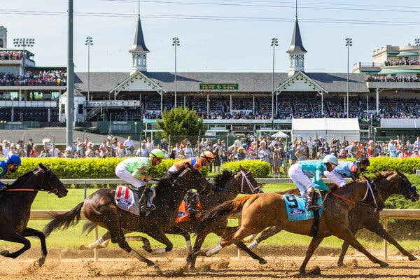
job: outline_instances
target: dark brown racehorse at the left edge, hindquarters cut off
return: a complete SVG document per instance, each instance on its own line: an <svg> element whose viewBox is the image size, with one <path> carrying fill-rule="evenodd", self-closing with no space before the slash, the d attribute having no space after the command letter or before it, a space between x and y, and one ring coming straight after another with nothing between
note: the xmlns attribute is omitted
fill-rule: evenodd
<svg viewBox="0 0 420 280"><path fill-rule="evenodd" d="M54 193L57 197L65 197L67 190L52 172L50 167L39 164L38 168L32 169L14 181L7 190L0 193L0 239L21 243L23 247L18 251L9 253L8 250L0 252L8 258L18 258L23 252L31 248L31 242L25 237L35 236L41 241L41 258L38 265L41 267L47 256L47 246L43 232L28 228L31 214L31 205L36 194L41 191Z"/></svg>

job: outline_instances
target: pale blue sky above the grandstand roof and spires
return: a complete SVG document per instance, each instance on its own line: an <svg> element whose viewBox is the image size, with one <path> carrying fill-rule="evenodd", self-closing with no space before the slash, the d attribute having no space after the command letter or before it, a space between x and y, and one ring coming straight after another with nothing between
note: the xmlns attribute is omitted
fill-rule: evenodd
<svg viewBox="0 0 420 280"><path fill-rule="evenodd" d="M420 37L420 3L390 0L298 1L307 72L346 72L344 39L353 38L350 65L372 62L385 45L414 44ZM66 0L3 1L0 25L13 38L35 38L30 50L38 66L66 66ZM130 71L128 52L137 25L137 0L74 0L74 62L87 71L86 36L92 36L91 71ZM288 70L286 50L295 1L141 1L148 71L174 71L172 38L179 37L177 71L271 72L273 37L276 72Z"/></svg>

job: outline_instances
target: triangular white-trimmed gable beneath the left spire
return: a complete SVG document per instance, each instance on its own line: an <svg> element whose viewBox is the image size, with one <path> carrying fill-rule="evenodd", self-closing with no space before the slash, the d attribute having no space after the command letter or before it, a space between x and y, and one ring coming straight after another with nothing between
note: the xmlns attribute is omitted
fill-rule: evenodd
<svg viewBox="0 0 420 280"><path fill-rule="evenodd" d="M161 95L166 93L160 85L140 71L135 71L130 74L130 76L114 87L110 93L117 95L119 92L123 91L158 92Z"/></svg>

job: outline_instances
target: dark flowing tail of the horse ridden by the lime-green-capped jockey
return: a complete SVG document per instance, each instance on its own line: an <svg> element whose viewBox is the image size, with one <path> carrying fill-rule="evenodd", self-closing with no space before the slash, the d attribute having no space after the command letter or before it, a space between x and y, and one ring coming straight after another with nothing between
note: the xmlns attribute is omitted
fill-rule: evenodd
<svg viewBox="0 0 420 280"><path fill-rule="evenodd" d="M52 221L45 225L43 233L45 237L48 237L54 230L66 230L72 225L76 225L80 221L80 211L83 207L83 202L80 202L70 211L64 214L51 213Z"/></svg>

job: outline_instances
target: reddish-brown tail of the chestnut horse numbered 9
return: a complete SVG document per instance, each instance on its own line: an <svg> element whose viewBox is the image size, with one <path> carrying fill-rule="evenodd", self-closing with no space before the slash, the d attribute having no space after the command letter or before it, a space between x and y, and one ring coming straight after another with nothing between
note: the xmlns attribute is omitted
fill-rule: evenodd
<svg viewBox="0 0 420 280"><path fill-rule="evenodd" d="M245 202L251 197L253 197L253 195L246 195L235 200L228 200L209 211L205 211L201 215L200 221L194 231L202 232L214 221L220 221L223 218L228 218L231 214L240 212L242 207L244 207Z"/></svg>

